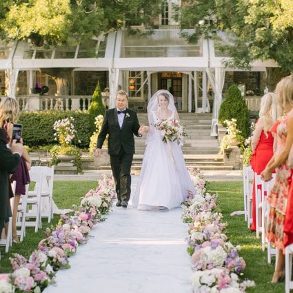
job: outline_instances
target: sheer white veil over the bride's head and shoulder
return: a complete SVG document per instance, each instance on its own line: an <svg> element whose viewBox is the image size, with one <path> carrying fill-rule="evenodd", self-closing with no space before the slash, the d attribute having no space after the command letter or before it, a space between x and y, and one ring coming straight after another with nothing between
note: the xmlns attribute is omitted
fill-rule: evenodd
<svg viewBox="0 0 293 293"><path fill-rule="evenodd" d="M155 92L152 97L150 98L150 101L148 102L148 123L149 123L149 132L148 132L148 138L145 142L147 144L150 140L152 140L152 136L154 134L154 114L153 112L159 109L159 97L163 95L166 99L168 99L168 109L174 112L174 117L176 117L176 107L174 103L174 97L173 95L168 92L168 90L158 90Z"/></svg>

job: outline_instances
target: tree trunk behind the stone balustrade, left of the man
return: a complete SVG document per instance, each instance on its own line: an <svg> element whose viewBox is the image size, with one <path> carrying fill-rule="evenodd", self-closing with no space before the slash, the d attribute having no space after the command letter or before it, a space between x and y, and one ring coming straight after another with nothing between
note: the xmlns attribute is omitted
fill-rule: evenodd
<svg viewBox="0 0 293 293"><path fill-rule="evenodd" d="M41 72L48 74L57 85L57 96L68 96L70 90L70 75L72 69L42 68Z"/></svg>

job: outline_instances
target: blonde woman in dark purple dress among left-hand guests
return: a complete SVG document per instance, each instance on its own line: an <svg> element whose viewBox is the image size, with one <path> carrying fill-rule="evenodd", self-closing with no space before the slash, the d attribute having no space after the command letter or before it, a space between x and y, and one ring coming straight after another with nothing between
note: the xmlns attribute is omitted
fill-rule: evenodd
<svg viewBox="0 0 293 293"><path fill-rule="evenodd" d="M8 131L10 125L17 123L19 119L19 105L16 99L6 98L0 104L0 127L6 134L7 143L12 141L12 132ZM14 171L10 178L10 182L17 181L17 186L14 196L14 208L12 213L12 240L14 243L19 243L17 236L17 207L21 198L21 194L26 194L26 184L30 183L30 175L28 170L31 165L30 156L26 148L22 150L21 163L17 170Z"/></svg>

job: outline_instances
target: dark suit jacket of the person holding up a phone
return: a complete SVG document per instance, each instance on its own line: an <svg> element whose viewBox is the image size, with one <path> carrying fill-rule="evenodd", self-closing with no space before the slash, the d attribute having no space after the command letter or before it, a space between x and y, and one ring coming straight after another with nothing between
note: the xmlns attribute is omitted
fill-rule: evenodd
<svg viewBox="0 0 293 293"><path fill-rule="evenodd" d="M12 174L21 162L19 154L12 154L6 147L6 134L0 128L0 218L7 218L11 185L8 174Z"/></svg>

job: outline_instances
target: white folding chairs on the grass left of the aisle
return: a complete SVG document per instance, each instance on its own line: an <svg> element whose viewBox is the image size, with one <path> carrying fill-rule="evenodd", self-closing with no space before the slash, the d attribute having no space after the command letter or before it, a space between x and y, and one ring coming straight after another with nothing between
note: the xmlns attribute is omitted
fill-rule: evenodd
<svg viewBox="0 0 293 293"><path fill-rule="evenodd" d="M53 218L54 166L32 166L29 173L30 184L26 185L26 194L21 195L17 208L17 235L21 242L26 236L27 227L34 227L34 232L37 232L42 227L43 217L48 217L48 223ZM14 194L15 186L14 181L12 183ZM10 205L13 211L13 198ZM12 245L12 217L8 222L6 239L1 239L0 245L5 245L6 252Z"/></svg>

